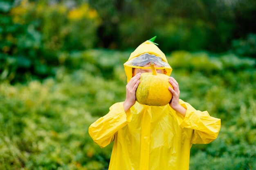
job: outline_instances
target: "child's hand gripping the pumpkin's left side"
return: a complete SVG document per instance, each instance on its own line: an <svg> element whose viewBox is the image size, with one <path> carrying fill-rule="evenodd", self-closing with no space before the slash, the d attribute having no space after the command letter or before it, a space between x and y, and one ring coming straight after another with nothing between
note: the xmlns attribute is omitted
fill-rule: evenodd
<svg viewBox="0 0 256 170"><path fill-rule="evenodd" d="M128 84L126 85L126 99L124 101L124 111L128 111L130 107L135 104L136 96L135 92L139 85L139 78L141 73L139 72L135 76L133 76Z"/></svg>

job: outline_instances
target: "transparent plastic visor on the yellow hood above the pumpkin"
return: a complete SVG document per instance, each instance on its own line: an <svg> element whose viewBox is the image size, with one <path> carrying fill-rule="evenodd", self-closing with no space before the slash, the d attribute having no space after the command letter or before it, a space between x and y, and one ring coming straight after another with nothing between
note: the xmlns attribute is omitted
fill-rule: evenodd
<svg viewBox="0 0 256 170"><path fill-rule="evenodd" d="M124 65L129 65L132 68L141 68L150 62L153 62L157 69L171 68L168 63L162 61L161 57L157 57L154 54L148 53L141 54L139 57L135 57L130 61L127 61ZM150 68L150 65L143 68Z"/></svg>

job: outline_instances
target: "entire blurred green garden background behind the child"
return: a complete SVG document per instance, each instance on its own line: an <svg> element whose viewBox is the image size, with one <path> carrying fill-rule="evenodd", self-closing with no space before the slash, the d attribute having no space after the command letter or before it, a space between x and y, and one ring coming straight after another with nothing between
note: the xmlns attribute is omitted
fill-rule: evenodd
<svg viewBox="0 0 256 170"><path fill-rule="evenodd" d="M180 98L222 120L190 169L255 170L255 21L255 0L0 0L0 169L108 169L88 127L157 35Z"/></svg>

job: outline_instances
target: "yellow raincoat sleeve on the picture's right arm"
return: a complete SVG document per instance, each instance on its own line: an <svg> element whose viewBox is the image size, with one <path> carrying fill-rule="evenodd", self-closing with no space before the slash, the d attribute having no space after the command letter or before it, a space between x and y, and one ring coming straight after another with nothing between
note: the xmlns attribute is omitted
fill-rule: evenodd
<svg viewBox="0 0 256 170"><path fill-rule="evenodd" d="M207 111L195 110L181 99L180 105L186 108L186 116L177 114L177 121L182 128L193 129L192 144L209 144L217 138L220 119L211 117Z"/></svg>

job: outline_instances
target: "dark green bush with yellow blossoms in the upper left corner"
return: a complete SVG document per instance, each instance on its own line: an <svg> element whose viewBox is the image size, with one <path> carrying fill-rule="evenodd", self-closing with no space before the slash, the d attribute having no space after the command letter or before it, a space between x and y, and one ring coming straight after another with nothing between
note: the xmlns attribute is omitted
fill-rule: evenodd
<svg viewBox="0 0 256 170"><path fill-rule="evenodd" d="M60 53L95 44L99 17L87 3L71 9L43 0L0 2L0 81L54 76Z"/></svg>

